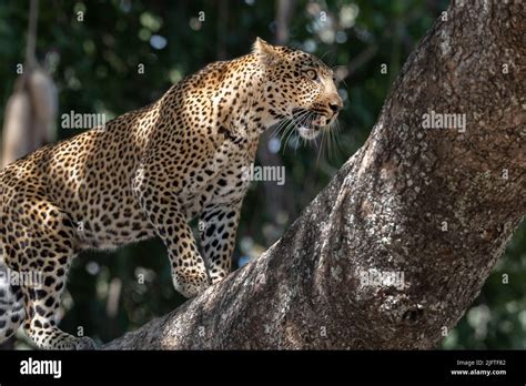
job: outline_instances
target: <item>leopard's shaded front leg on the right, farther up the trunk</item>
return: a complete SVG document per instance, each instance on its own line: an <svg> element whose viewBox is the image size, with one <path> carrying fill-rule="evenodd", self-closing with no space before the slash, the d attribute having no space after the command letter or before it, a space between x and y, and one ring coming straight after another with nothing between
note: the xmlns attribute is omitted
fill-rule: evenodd
<svg viewBox="0 0 526 386"><path fill-rule="evenodd" d="M242 200L209 204L200 216L200 234L212 284L230 274Z"/></svg>

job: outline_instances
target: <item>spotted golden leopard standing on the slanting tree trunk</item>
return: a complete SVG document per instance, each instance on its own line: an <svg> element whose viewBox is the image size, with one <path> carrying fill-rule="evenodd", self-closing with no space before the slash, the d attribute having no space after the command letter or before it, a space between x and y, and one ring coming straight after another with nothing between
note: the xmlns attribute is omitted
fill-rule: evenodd
<svg viewBox="0 0 526 386"><path fill-rule="evenodd" d="M97 349L58 326L68 272L87 250L160 237L184 297L221 282L261 135L282 122L305 140L331 130L343 108L336 82L314 54L257 38L247 54L208 64L150 105L7 165L0 343L21 327L40 349ZM13 280L27 274L38 280Z"/></svg>

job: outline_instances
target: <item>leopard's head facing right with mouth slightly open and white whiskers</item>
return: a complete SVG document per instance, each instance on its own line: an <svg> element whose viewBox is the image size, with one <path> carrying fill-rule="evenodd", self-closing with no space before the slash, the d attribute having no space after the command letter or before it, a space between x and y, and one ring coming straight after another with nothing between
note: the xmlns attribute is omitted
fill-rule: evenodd
<svg viewBox="0 0 526 386"><path fill-rule="evenodd" d="M253 53L264 71L271 123L287 119L302 138L312 140L335 122L343 102L333 71L320 59L260 38Z"/></svg>

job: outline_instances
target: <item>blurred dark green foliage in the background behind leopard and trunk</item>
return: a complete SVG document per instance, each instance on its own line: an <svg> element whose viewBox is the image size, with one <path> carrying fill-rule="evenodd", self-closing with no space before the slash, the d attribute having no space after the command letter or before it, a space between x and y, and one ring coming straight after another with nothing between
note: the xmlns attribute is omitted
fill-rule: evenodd
<svg viewBox="0 0 526 386"><path fill-rule="evenodd" d="M285 212L271 217L261 205L264 183L251 186L236 261L246 262L269 247L365 142L401 67L446 7L443 0L294 2L290 45L336 69L357 65L340 85L345 109L333 146L299 146L292 138L277 149L286 166L286 184L281 186L290 197ZM26 1L0 1L1 105L13 90L17 63L23 62L28 8ZM149 104L211 61L247 53L256 35L273 41L275 13L275 3L266 0L45 0L40 4L37 54L59 87L59 116L74 110L111 119ZM355 62L362 57L362 63ZM381 72L384 63L387 73ZM58 135L78 132L59 129ZM271 142L275 148L275 140ZM445 348L526 348L525 251L523 224L476 303L444 341ZM61 327L72 333L82 327L108 342L183 301L172 287L165 251L156 240L113 253L85 253L72 267ZM24 346L20 336L17 346Z"/></svg>

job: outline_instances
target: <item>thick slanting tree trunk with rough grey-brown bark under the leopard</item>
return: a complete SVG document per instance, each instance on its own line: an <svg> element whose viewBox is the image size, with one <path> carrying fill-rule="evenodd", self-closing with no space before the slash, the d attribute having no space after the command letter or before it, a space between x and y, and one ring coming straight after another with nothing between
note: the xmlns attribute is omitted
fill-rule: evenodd
<svg viewBox="0 0 526 386"><path fill-rule="evenodd" d="M435 347L526 211L525 37L517 1L453 3L365 145L276 244L104 348ZM431 110L465 113L466 131L424 129ZM373 272L405 285L367 285Z"/></svg>

